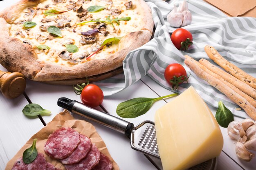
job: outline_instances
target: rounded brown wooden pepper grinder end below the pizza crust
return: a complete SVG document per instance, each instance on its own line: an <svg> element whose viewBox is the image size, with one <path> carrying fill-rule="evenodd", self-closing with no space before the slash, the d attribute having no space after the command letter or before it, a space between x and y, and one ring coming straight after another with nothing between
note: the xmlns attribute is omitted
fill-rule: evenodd
<svg viewBox="0 0 256 170"><path fill-rule="evenodd" d="M0 90L6 98L16 98L24 92L26 79L19 72L3 72L0 70Z"/></svg>

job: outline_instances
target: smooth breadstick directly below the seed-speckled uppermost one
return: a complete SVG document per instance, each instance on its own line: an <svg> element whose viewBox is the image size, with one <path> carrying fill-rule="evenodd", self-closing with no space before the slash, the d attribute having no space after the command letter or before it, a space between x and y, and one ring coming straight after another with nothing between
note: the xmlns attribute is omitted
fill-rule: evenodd
<svg viewBox="0 0 256 170"><path fill-rule="evenodd" d="M251 86L247 85L243 81L238 80L236 77L228 74L227 72L221 70L220 68L216 67L215 65L211 64L209 61L205 59L200 59L199 63L204 65L206 68L211 70L212 72L218 74L222 78L224 78L227 82L231 83L232 85L236 86L245 94L251 96L256 100L256 89L252 88Z"/></svg>

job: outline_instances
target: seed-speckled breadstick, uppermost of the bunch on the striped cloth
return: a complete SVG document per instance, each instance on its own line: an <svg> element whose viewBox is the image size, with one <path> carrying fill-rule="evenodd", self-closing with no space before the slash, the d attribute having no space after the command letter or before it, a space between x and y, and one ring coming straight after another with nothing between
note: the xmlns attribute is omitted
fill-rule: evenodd
<svg viewBox="0 0 256 170"><path fill-rule="evenodd" d="M236 65L224 59L215 48L211 46L205 46L204 50L210 59L212 59L215 63L220 65L220 67L226 70L229 74L233 75L234 77L238 78L240 81L243 81L247 85L256 89L256 78L247 74L246 72L238 68Z"/></svg>

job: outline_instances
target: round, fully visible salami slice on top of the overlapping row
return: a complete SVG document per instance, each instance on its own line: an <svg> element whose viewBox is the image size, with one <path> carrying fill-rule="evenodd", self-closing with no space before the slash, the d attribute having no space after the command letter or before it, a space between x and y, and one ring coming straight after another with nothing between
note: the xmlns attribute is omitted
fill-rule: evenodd
<svg viewBox="0 0 256 170"><path fill-rule="evenodd" d="M55 159L70 155L80 142L79 133L72 128L63 127L49 135L45 143L45 153Z"/></svg>

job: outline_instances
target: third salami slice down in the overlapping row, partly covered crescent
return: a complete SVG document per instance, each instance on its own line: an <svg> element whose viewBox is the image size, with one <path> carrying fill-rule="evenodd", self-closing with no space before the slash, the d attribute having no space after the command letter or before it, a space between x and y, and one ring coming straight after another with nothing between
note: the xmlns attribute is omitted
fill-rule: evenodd
<svg viewBox="0 0 256 170"><path fill-rule="evenodd" d="M91 170L99 163L100 156L101 152L95 144L92 144L90 152L84 159L72 165L65 165L65 168L67 170Z"/></svg>

